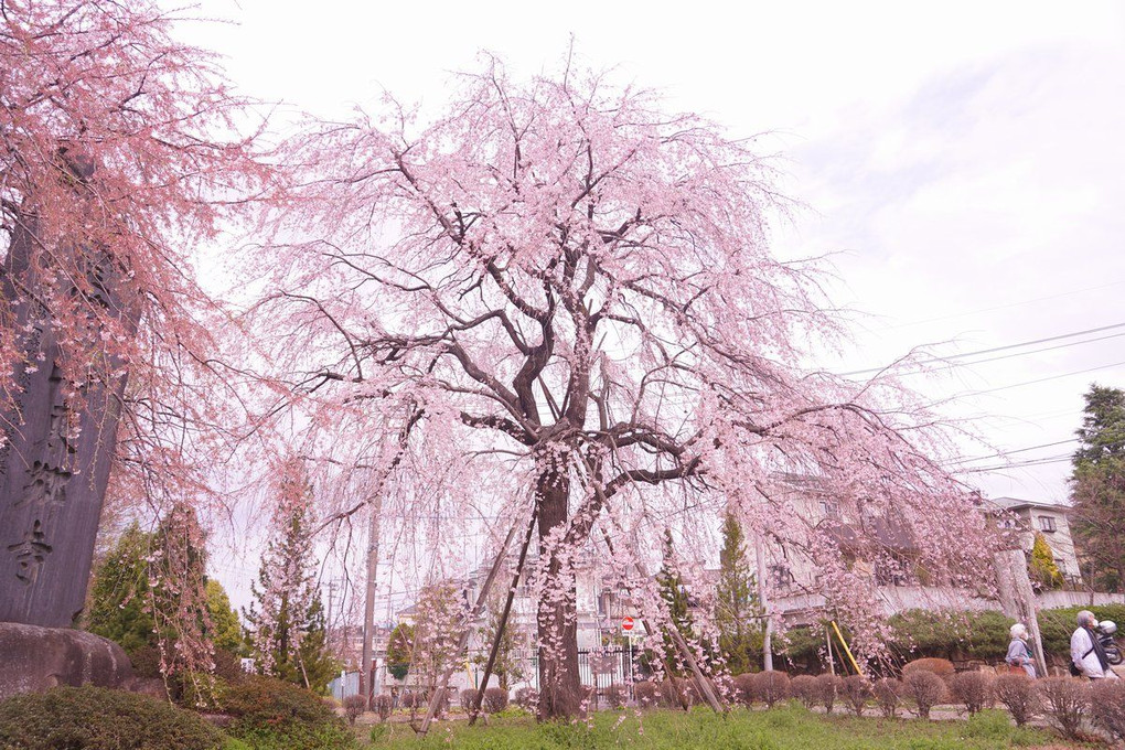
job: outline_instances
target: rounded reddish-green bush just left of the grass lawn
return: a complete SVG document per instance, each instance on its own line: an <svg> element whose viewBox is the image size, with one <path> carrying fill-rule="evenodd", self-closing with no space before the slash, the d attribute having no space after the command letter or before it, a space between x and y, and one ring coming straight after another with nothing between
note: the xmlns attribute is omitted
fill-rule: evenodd
<svg viewBox="0 0 1125 750"><path fill-rule="evenodd" d="M219 703L234 721L231 734L255 750L354 747L356 738L324 701L303 687L255 676L223 690Z"/></svg>

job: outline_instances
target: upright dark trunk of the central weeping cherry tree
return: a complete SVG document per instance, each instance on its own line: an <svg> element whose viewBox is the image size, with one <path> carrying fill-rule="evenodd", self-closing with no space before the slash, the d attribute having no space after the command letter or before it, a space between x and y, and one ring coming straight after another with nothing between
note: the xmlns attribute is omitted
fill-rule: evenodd
<svg viewBox="0 0 1125 750"><path fill-rule="evenodd" d="M539 478L539 549L547 551L548 586L539 600L539 720L578 715L582 683L578 674L578 613L574 566L569 551L551 546L551 532L566 528L570 484L554 469Z"/></svg>

